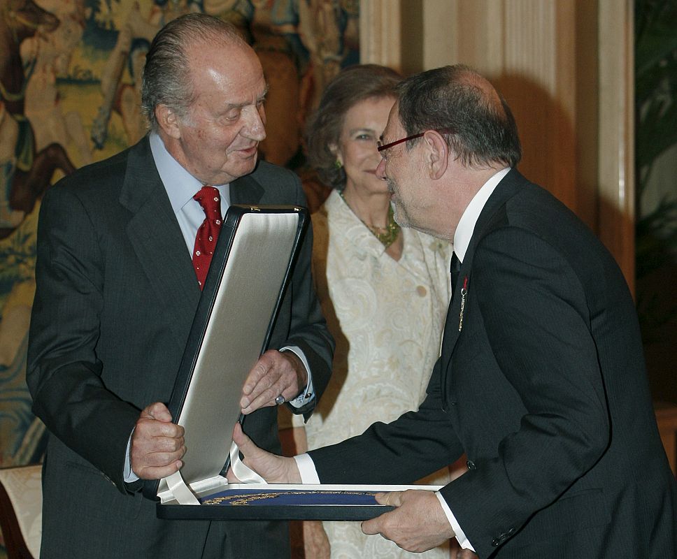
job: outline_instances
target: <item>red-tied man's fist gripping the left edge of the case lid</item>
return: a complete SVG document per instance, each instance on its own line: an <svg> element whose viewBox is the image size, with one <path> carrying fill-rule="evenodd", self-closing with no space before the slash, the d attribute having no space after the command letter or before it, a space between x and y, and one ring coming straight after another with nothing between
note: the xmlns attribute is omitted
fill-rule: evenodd
<svg viewBox="0 0 677 559"><path fill-rule="evenodd" d="M185 454L183 427L171 422L169 409L155 402L143 409L131 435L131 470L141 479L161 479L173 474Z"/></svg>

